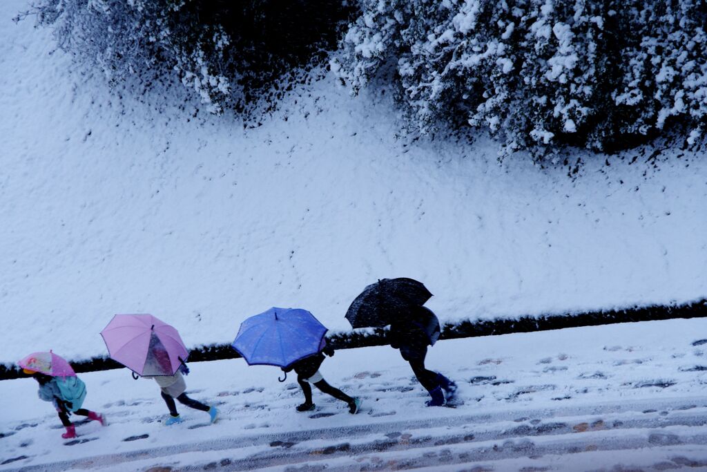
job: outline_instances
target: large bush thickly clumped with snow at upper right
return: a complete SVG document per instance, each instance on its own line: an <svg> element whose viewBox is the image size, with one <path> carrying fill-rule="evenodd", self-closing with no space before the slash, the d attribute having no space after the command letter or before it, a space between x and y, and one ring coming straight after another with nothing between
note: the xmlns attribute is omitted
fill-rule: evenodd
<svg viewBox="0 0 707 472"><path fill-rule="evenodd" d="M705 1L361 0L332 70L353 93L392 67L421 132L469 124L504 154L602 149L706 108Z"/></svg>

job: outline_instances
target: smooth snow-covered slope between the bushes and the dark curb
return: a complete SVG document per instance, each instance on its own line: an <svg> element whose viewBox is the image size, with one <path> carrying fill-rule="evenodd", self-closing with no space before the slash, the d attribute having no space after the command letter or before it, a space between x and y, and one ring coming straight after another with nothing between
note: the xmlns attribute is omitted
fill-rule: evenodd
<svg viewBox="0 0 707 472"><path fill-rule="evenodd" d="M47 30L10 21L24 5L0 2L0 362L103 354L114 313L153 313L190 346L270 306L347 330L381 277L425 282L443 321L706 295L703 152L658 168L653 149L610 167L579 153L570 180L501 166L484 138L397 139L387 96L329 79L257 129L192 118L110 96Z"/></svg>

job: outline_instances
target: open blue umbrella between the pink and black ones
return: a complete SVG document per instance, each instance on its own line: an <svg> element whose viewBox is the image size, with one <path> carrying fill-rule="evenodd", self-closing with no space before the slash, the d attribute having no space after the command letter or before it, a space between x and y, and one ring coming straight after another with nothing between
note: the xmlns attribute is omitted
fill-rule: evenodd
<svg viewBox="0 0 707 472"><path fill-rule="evenodd" d="M325 333L309 311L273 307L240 323L233 348L248 365L288 367L320 352Z"/></svg>

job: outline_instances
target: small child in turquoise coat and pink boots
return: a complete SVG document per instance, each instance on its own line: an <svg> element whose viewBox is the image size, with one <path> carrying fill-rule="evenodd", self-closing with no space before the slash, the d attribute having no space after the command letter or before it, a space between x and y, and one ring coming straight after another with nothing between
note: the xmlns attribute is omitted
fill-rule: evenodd
<svg viewBox="0 0 707 472"><path fill-rule="evenodd" d="M86 387L83 386L83 381L78 379L78 377L69 376L59 377L57 379L57 377L42 374L30 369L23 369L23 372L31 375L37 383L40 384L39 391L37 392L39 397L44 401L54 403L54 408L57 408L57 413L59 413L59 420L62 420L62 425L66 428L66 432L62 434L64 439L76 437L76 427L74 427L74 424L69 420L71 413L87 416L89 420L98 421L102 426L105 426L105 418L103 415L86 410L86 408L81 408L83 399L86 398ZM62 383L62 386L59 386L59 383ZM76 398L66 398L65 393L69 389L64 387L64 384L78 386L78 391L81 391L81 394ZM62 387L64 387L63 392Z"/></svg>

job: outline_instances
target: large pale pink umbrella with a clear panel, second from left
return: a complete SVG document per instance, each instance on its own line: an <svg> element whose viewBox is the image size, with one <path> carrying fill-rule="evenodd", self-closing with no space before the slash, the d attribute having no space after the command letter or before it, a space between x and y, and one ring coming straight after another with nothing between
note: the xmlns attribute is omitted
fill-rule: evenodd
<svg viewBox="0 0 707 472"><path fill-rule="evenodd" d="M100 332L110 358L139 375L174 375L189 351L177 330L152 315L115 315Z"/></svg>

